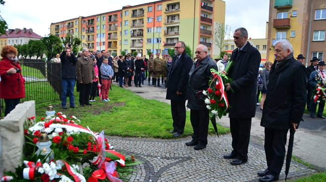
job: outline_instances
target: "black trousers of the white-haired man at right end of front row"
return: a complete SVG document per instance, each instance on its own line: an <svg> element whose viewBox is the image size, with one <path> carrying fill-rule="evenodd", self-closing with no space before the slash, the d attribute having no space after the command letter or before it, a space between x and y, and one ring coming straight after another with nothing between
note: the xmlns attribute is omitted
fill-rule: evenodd
<svg viewBox="0 0 326 182"><path fill-rule="evenodd" d="M279 176L285 158L285 144L288 130L265 128L265 154L270 175Z"/></svg>

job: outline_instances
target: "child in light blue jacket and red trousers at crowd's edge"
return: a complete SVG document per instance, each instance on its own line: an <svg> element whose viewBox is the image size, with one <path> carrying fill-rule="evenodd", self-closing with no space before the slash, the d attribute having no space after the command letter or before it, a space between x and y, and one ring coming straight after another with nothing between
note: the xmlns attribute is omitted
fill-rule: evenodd
<svg viewBox="0 0 326 182"><path fill-rule="evenodd" d="M108 98L109 89L111 87L111 79L114 76L112 67L108 64L109 60L107 57L103 58L103 64L101 65L101 77L102 77L102 101L110 101Z"/></svg>

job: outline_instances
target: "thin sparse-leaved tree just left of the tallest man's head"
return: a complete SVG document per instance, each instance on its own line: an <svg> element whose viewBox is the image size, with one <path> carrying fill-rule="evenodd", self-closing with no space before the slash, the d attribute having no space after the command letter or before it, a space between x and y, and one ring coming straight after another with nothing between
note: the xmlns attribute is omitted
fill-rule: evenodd
<svg viewBox="0 0 326 182"><path fill-rule="evenodd" d="M223 23L216 23L216 28L214 30L214 44L220 48L220 58L223 58L223 55L221 56L222 49L229 45L228 40L231 38L231 27L228 25L224 25Z"/></svg>

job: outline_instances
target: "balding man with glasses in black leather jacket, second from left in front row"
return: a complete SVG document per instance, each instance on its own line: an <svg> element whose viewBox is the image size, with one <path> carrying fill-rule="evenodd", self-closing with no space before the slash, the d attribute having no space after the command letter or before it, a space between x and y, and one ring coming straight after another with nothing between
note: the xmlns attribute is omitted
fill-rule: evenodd
<svg viewBox="0 0 326 182"><path fill-rule="evenodd" d="M195 150L201 150L206 148L207 145L209 110L206 108L203 99L204 95L199 91L207 90L209 87L208 82L212 77L210 69L218 69L216 63L208 56L207 46L197 46L195 53L197 60L193 63L189 73L187 104L187 107L190 108L190 121L194 134L193 139L187 142L186 145L195 146ZM201 93L199 97L197 96L198 92Z"/></svg>

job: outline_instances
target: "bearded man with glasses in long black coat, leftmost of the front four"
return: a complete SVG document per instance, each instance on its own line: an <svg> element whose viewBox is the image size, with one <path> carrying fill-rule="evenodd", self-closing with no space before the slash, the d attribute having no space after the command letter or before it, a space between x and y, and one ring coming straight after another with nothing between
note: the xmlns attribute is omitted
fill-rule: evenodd
<svg viewBox="0 0 326 182"><path fill-rule="evenodd" d="M192 58L186 53L186 45L179 41L175 46L172 68L165 84L166 99L171 100L174 137L184 133L186 125L186 100L188 93L189 72L192 68Z"/></svg>

